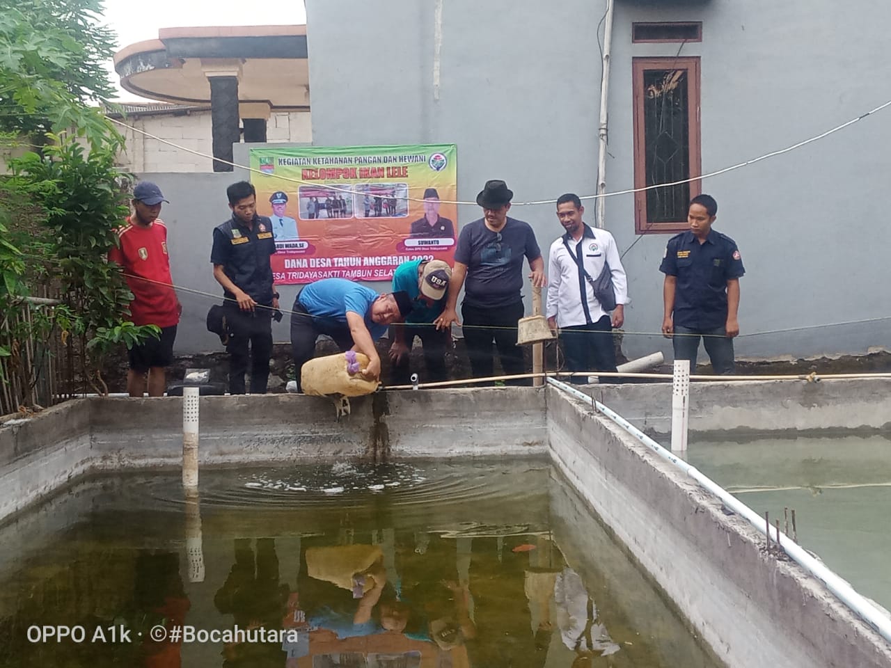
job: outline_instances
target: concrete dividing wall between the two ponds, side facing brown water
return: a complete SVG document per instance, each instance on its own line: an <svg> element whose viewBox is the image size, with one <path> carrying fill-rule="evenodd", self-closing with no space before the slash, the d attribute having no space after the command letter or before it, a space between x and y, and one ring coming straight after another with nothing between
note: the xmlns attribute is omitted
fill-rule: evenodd
<svg viewBox="0 0 891 668"><path fill-rule="evenodd" d="M590 407L548 389L552 460L730 668L887 666L891 646L748 523Z"/></svg>

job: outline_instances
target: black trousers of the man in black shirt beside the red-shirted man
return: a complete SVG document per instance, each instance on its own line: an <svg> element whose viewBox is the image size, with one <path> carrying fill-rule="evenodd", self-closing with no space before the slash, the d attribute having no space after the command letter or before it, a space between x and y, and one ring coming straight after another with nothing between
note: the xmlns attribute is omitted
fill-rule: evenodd
<svg viewBox="0 0 891 668"><path fill-rule="evenodd" d="M229 344L225 346L229 354L229 394L244 394L244 374L250 359L250 394L265 395L269 358L273 355L272 311L242 311L227 303L225 317L229 326Z"/></svg>

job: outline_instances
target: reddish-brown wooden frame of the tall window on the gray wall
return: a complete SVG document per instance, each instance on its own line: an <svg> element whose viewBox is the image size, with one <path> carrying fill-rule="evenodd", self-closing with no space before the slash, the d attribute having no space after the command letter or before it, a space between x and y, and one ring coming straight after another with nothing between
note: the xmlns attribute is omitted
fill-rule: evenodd
<svg viewBox="0 0 891 668"><path fill-rule="evenodd" d="M632 84L634 86L634 188L647 186L646 145L643 120L643 72L648 69L686 69L688 95L688 128L690 175L702 174L701 138L699 127L699 56L678 58L633 58ZM690 197L702 192L702 182L696 179L690 182ZM688 229L687 218L663 223L647 223L647 192L634 193L634 232L637 234L674 234Z"/></svg>

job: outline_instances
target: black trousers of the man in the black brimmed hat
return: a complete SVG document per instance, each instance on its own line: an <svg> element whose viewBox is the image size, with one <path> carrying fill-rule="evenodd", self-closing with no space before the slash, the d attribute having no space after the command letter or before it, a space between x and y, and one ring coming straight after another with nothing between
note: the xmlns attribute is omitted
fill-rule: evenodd
<svg viewBox="0 0 891 668"><path fill-rule="evenodd" d="M523 349L517 346L517 322L523 317L522 302L499 308L478 308L462 305L464 345L470 356L470 372L474 378L491 376L494 368L492 341L507 376L526 371ZM506 381L508 385L530 385L529 379Z"/></svg>

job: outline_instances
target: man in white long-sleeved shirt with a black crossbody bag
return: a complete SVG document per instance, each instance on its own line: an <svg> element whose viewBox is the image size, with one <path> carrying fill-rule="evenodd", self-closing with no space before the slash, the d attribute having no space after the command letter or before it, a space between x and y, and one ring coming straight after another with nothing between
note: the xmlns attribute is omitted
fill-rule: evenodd
<svg viewBox="0 0 891 668"><path fill-rule="evenodd" d="M584 224L583 214L577 195L568 192L557 200L557 217L566 234L551 245L545 313L552 330L560 327L569 371L616 371L612 328L625 322L628 281L612 234L601 229L595 232ZM611 316L594 297L591 286L604 263L609 263L616 292ZM586 375L573 376L571 381L582 384Z"/></svg>

